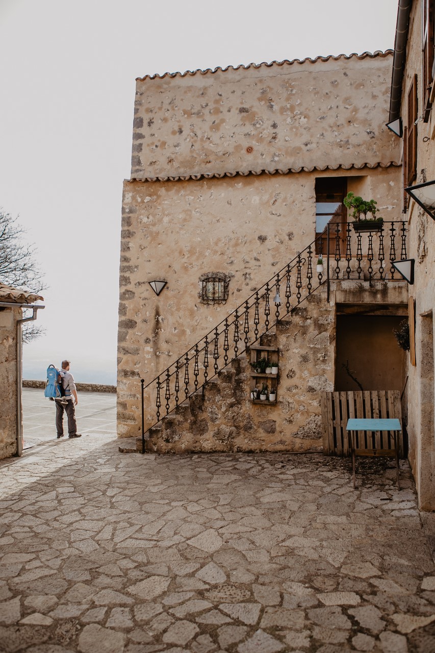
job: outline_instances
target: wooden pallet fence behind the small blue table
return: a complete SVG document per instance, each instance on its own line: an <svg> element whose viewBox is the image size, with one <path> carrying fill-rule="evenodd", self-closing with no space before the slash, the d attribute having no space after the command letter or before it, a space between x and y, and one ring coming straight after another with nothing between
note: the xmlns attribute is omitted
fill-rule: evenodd
<svg viewBox="0 0 435 653"><path fill-rule="evenodd" d="M364 390L363 392L323 392L321 397L323 422L323 453L327 456L349 456L347 420L391 419L400 420L402 409L399 390ZM393 449L393 436L388 432L356 434L357 449ZM398 453L403 458L403 433L398 434Z"/></svg>

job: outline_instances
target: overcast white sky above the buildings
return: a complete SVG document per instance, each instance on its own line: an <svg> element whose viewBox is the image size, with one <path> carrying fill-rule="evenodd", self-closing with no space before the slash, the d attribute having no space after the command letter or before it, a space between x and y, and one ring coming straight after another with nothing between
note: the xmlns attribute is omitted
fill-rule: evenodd
<svg viewBox="0 0 435 653"><path fill-rule="evenodd" d="M135 78L393 48L398 0L0 0L0 206L49 287L24 378L116 383Z"/></svg>

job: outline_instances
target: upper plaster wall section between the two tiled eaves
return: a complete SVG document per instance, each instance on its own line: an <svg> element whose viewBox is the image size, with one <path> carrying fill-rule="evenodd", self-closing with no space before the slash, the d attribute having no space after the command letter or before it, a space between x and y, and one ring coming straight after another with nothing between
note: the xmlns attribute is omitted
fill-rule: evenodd
<svg viewBox="0 0 435 653"><path fill-rule="evenodd" d="M391 51L137 80L132 178L400 160Z"/></svg>

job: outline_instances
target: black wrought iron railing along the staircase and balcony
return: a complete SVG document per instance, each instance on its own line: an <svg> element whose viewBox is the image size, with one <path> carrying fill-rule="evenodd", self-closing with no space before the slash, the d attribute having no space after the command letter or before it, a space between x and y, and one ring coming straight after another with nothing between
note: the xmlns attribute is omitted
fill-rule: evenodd
<svg viewBox="0 0 435 653"><path fill-rule="evenodd" d="M324 235L317 236L166 370L147 385L144 379L140 380L142 453L145 434L150 428L189 396L204 389L231 360L244 353L321 285L327 283L329 301L331 279L397 280L399 275L392 261L396 260L399 249L400 260L406 259L406 236L406 223L399 221L384 222L380 231L365 233L355 233L350 224L344 230L339 223L327 225ZM318 257L323 257L324 271L314 273ZM155 404L155 417L148 426L145 425L145 390L150 395L148 405Z"/></svg>

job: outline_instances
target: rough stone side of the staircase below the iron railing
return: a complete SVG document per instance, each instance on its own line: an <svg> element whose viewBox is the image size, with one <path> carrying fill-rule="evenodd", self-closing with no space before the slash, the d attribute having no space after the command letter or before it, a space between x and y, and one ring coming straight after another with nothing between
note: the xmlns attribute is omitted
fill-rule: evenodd
<svg viewBox="0 0 435 653"><path fill-rule="evenodd" d="M256 343L280 351L276 404L251 402L248 351L152 426L146 453L320 451L319 390L332 389L333 370L325 293L319 288ZM127 450L142 452L142 438Z"/></svg>

